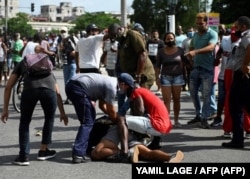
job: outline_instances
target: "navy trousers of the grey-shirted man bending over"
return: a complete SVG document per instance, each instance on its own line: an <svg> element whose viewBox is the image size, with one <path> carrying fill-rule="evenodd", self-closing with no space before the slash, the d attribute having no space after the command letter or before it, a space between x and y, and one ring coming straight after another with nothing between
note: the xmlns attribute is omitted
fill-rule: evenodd
<svg viewBox="0 0 250 179"><path fill-rule="evenodd" d="M80 122L72 154L76 156L85 156L89 135L96 118L96 111L80 83L69 80L66 84L65 91L74 105L77 118Z"/></svg>

